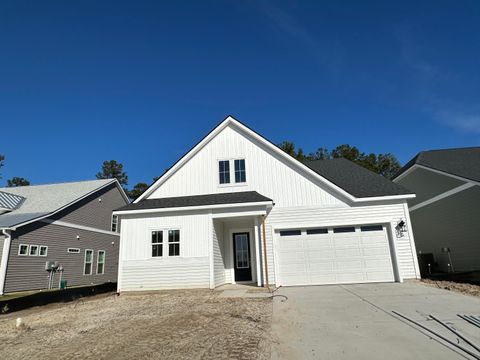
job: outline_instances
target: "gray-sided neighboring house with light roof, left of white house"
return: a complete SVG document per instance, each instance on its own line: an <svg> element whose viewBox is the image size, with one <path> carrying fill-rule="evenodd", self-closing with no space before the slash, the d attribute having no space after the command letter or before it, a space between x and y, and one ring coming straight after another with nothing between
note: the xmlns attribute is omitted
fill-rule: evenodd
<svg viewBox="0 0 480 360"><path fill-rule="evenodd" d="M116 282L112 210L128 202L115 179L0 188L0 295Z"/></svg>

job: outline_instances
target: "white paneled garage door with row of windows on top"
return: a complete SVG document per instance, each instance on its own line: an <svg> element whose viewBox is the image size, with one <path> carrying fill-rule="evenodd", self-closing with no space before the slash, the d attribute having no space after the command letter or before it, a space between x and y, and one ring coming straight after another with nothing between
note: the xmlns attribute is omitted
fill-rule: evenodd
<svg viewBox="0 0 480 360"><path fill-rule="evenodd" d="M283 286L395 281L383 225L292 229L276 236Z"/></svg>

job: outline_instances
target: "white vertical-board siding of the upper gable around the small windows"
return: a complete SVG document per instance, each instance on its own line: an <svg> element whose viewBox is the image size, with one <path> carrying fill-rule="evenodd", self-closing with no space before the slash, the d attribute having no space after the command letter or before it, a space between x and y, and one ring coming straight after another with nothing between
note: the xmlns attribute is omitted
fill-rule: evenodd
<svg viewBox="0 0 480 360"><path fill-rule="evenodd" d="M219 186L218 160L227 159L245 159L246 184L234 184L232 161L232 184ZM231 126L213 138L149 199L235 191L257 191L279 206L346 206L317 180L302 176L284 159L272 155Z"/></svg>

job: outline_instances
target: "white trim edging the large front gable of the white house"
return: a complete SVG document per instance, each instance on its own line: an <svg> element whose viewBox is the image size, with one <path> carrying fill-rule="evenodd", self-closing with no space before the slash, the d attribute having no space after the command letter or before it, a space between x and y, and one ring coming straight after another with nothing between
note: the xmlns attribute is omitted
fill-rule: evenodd
<svg viewBox="0 0 480 360"><path fill-rule="evenodd" d="M143 199L147 198L149 195L151 195L152 192L155 191L155 189L157 189L165 181L167 181L173 174L175 174L175 172L178 169L180 169L183 166L183 164L185 164L193 156L195 156L204 146L206 146L210 142L210 140L212 140L215 136L217 136L227 126L232 126L236 130L252 137L256 141L264 145L272 153L275 153L281 158L283 158L284 160L288 161L298 170L302 170L307 174L315 177L317 180L324 183L327 187L333 189L335 192L339 193L340 195L344 196L345 198L347 198L352 202L378 201L378 200L403 199L403 198L415 197L414 194L410 193L410 194L400 194L400 195L389 195L389 196L385 195L385 196L357 198L356 196L350 194L348 191L343 189L341 186L335 184L334 182L330 181L329 179L322 176L318 172L312 170L307 165L298 161L294 157L288 155L282 149L280 149L277 145L273 144L271 141L267 140L265 137L258 134L254 130L250 129L248 126L234 119L232 116L228 116L210 133L208 133L202 140L200 140L200 142L198 142L192 149L190 149L184 156L182 156L175 164L173 164L173 166L170 167L157 181L155 181L152 185L150 185L150 187L142 195L140 195L137 199L135 199L133 203L138 203Z"/></svg>

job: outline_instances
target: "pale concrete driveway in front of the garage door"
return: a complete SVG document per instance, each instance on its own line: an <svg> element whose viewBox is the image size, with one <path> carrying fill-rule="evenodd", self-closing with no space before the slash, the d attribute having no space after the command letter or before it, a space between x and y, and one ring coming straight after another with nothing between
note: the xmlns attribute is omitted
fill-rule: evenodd
<svg viewBox="0 0 480 360"><path fill-rule="evenodd" d="M419 283L282 288L273 304L272 359L470 359L396 318L396 310L457 342L434 315L480 345L480 298ZM468 347L462 340L460 345ZM468 347L469 350L474 351Z"/></svg>

